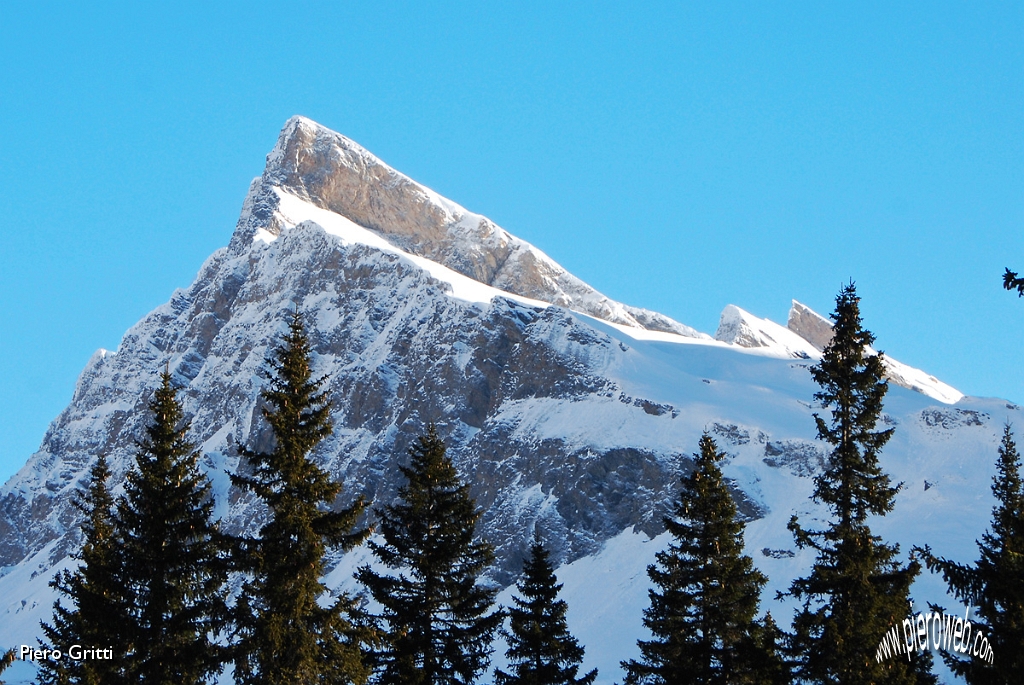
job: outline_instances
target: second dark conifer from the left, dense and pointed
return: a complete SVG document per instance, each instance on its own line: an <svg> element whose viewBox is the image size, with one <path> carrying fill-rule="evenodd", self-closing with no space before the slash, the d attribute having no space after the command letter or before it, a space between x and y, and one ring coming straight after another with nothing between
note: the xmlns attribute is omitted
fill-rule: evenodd
<svg viewBox="0 0 1024 685"><path fill-rule="evenodd" d="M185 439L188 422L167 372L150 411L153 424L114 521L129 615L114 647L126 654L128 682L203 683L221 665L213 641L225 611L220 536L210 483Z"/></svg>

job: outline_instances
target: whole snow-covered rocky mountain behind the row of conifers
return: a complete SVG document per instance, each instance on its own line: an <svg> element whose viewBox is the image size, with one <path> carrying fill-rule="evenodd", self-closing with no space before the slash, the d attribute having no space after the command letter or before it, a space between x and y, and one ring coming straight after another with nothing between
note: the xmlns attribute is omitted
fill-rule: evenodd
<svg viewBox="0 0 1024 685"><path fill-rule="evenodd" d="M797 302L785 327L730 305L712 338L614 302L485 217L294 118L228 246L116 351L93 355L39 452L0 490L0 645L34 642L49 616L47 582L80 542L72 496L99 454L120 482L165 363L184 388L218 515L233 529L258 524L262 512L226 474L239 444L267 439L264 359L296 305L316 372L331 376L335 431L315 459L346 497L387 503L408 445L435 422L484 511L493 579L514 581L540 530L599 682L620 679L620 659L638 653L645 568L667 544L662 517L702 431L729 454L748 551L771 579L762 607L787 617L771 598L809 562L785 523L819 513L808 498L825 453L807 370L829 322ZM973 559L997 437L1019 409L887 363L885 421L896 434L884 467L905 486L877 529L904 549L929 543ZM366 556L334 559L331 582L350 587ZM942 586L926 576L915 594L938 601Z"/></svg>

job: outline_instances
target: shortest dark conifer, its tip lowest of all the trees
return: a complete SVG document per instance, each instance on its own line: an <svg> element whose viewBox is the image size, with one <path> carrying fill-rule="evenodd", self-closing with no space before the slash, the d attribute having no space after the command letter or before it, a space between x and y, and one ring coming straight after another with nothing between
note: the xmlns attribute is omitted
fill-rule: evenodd
<svg viewBox="0 0 1024 685"><path fill-rule="evenodd" d="M510 632L506 635L511 674L495 672L498 685L590 685L597 670L577 678L584 648L569 635L565 623L568 605L558 599L562 586L540 542L529 550L522 580L516 585L521 597L508 610Z"/></svg>

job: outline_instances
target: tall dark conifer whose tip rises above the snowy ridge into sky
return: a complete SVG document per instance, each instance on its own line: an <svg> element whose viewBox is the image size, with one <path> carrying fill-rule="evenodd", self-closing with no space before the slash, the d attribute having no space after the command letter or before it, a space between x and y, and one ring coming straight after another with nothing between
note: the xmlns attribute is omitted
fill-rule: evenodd
<svg viewBox="0 0 1024 685"><path fill-rule="evenodd" d="M794 619L792 648L798 678L812 683L916 683L906 659L874 659L878 643L907 613L910 584L920 572L898 560L898 546L871 534L868 517L892 511L898 485L879 465L892 429L876 430L888 389L881 354L865 348L874 338L860 320L853 284L836 298L836 326L821 361L811 369L821 391L814 398L831 411L818 415L818 438L831 446L814 480L814 500L831 515L821 530L790 521L797 545L817 557L810 575L793 582L790 594L804 600Z"/></svg>

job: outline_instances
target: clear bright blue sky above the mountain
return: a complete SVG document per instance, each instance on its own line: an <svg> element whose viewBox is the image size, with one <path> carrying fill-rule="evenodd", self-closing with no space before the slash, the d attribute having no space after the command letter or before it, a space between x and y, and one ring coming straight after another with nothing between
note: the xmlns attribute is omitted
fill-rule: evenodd
<svg viewBox="0 0 1024 685"><path fill-rule="evenodd" d="M0 8L0 480L294 114L612 298L714 333L852 277L882 349L1024 401L1020 2L213 4Z"/></svg>

